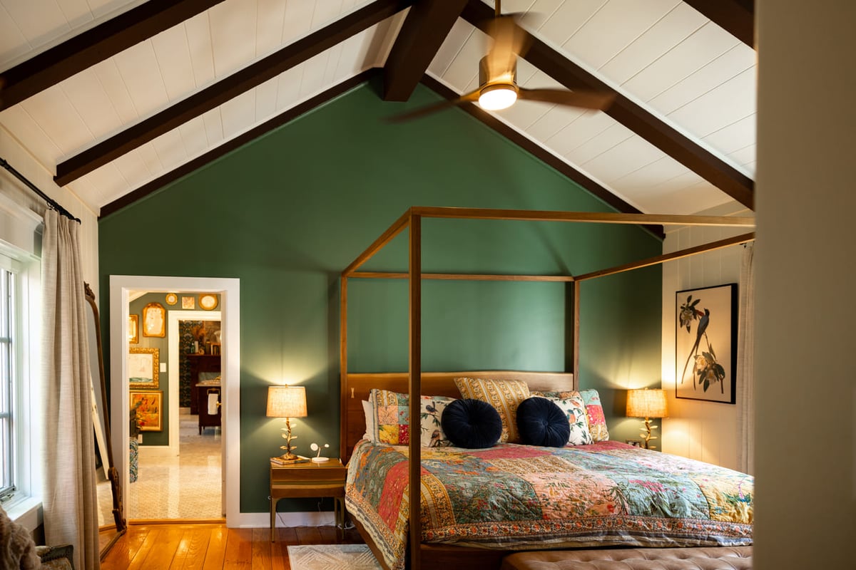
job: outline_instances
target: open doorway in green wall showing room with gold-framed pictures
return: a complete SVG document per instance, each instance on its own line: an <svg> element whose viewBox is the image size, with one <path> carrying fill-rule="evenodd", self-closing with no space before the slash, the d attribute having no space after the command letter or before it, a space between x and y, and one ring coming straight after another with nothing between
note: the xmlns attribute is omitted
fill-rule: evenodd
<svg viewBox="0 0 856 570"><path fill-rule="evenodd" d="M129 325L131 356L156 351L160 371L157 385L139 386L132 367L128 520L222 519L222 331L220 311L212 310L218 296L138 291L134 297L129 322L141 322L146 307L163 308L166 329L152 338ZM209 310L188 309L203 306L199 299L213 299ZM136 413L145 397L160 403L154 422Z"/></svg>

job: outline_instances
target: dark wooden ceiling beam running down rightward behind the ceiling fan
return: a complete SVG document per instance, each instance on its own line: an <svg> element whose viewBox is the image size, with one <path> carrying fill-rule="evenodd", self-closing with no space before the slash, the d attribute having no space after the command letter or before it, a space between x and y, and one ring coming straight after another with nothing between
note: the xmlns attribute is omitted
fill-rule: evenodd
<svg viewBox="0 0 856 570"><path fill-rule="evenodd" d="M486 33L486 24L493 17L493 9L480 0L469 0L461 17ZM527 36L530 47L526 51L526 61L568 89L586 87L598 91L614 91L612 87L568 60L542 40L535 38L532 34ZM621 93L615 97L615 102L609 109L603 112L693 170L746 208L753 209L755 183L752 179L677 132L663 120L651 115Z"/></svg>

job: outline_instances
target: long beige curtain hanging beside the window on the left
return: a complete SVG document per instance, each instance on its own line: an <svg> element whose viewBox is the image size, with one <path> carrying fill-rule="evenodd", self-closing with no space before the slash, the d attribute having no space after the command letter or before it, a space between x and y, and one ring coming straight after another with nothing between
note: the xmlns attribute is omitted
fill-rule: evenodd
<svg viewBox="0 0 856 570"><path fill-rule="evenodd" d="M45 212L42 354L45 394L45 540L74 544L74 567L98 570L86 299L78 222Z"/></svg>

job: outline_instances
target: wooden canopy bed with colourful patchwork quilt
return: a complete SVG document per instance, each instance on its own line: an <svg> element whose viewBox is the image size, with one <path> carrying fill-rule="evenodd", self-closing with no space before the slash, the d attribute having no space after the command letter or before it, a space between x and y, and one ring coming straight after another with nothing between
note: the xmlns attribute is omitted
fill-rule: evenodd
<svg viewBox="0 0 856 570"><path fill-rule="evenodd" d="M431 395L431 398L436 400L431 400L427 405L445 405L451 398L467 398L463 385L475 390L473 386L482 382L522 383L519 387L521 391L526 391L526 397L530 394L544 396L555 402L562 398L571 398L571 394L576 395L573 397L580 397L577 350L580 338L580 295L577 284L580 281L746 243L754 239L754 234L746 233L689 250L577 276L422 273L421 222L424 218L754 226L754 219L750 217L414 207L408 209L383 232L383 235L342 272L340 445L342 461L352 460L346 487L348 510L352 513L352 519L360 534L387 570L397 570L406 565L413 570L440 567L447 570L454 567L498 568L504 555L521 549L752 544L752 508L751 504L746 504L747 501L751 502L752 485L751 478L742 473L609 442L605 440L608 436L594 441L589 439L581 442L583 444L579 446L568 447L544 448L505 443L515 441L516 434L511 432L516 428L514 422L508 424L511 416L502 416L502 410L498 414L502 416L502 443L489 449L477 450L461 449L469 446L459 447L457 443L453 447L431 447L431 444L426 445L425 425L420 426L420 418L431 415L425 412L425 395ZM409 230L407 273L359 271L366 261L405 229ZM348 372L348 280L366 278L408 280L407 373ZM568 328L573 336L573 373L423 373L420 336L422 279L559 281L571 284L573 322ZM473 381L472 386L467 384L468 380ZM496 386L500 385L500 391L506 390L506 385L496 384L485 388L485 391L495 390ZM386 400L381 403L380 398ZM407 418L401 420L401 426L394 426L395 430L400 430L396 433L413 434L413 437L401 437L400 440L381 438L386 444L371 441L370 432L377 434L378 426L368 424L378 423L377 408L382 404L384 410L388 408L386 404L391 404L393 409L397 406L400 417ZM589 402L585 404L585 409L591 412ZM369 409L372 407L373 416L370 415ZM595 408L599 408L599 401ZM371 417L374 420L370 419ZM586 414L583 417L586 417ZM594 415L588 417L591 419ZM605 430L605 423L603 429ZM435 435L439 432L440 430L437 430ZM586 430L586 433L589 432ZM428 435L431 435L430 432ZM590 433L588 437L591 437ZM565 438L567 439L567 436ZM408 458L413 461L408 461ZM562 470L554 468L557 464L565 466L562 469L572 466L569 470L575 474L559 473ZM459 473L458 479L452 480L450 473L455 471L461 472L462 476ZM542 472L543 477L538 475ZM645 477L636 478L639 480L627 479L627 473L643 472ZM496 479L484 479L485 473L490 473L491 477ZM675 476L675 473L680 473L680 476ZM533 477L541 479L533 483ZM556 478L561 480L556 483ZM461 479L469 480L461 482ZM500 479L502 485L508 488L500 490L499 495L516 504L499 504L502 500L497 498L496 494L479 503L479 497L476 497L480 492L478 487L501 487L502 485L494 485L494 481ZM408 485L409 481L414 480L419 480L420 485ZM597 484L592 483L596 480ZM623 514L631 511L636 513L640 509L650 512L645 516L626 516L618 522L614 517L606 516L609 513L589 516L591 512L597 511L597 508L613 508L604 506L606 502L615 504L606 501L599 505L587 504L582 508L591 511L586 514L587 518L574 517L573 520L564 515L543 517L536 514L532 517L519 513L520 510L530 508L533 512L543 514L550 508L568 508L572 503L589 501L588 497L581 496L579 492L577 496L573 495L574 488L586 485L588 488L583 491L589 495L599 493L605 496L615 493L616 489L625 489L627 492L620 493L621 497L618 498ZM650 487L648 491L651 492L647 495L642 493L636 499L628 498L633 495L630 489L633 485ZM675 487L687 486L693 487L695 496L679 495L674 491ZM572 495L561 495L564 491L556 491L557 487L569 490ZM529 491L532 491L532 497L529 497L531 500L526 508L521 507L520 503L526 501L521 501L520 498ZM658 494L659 497L655 497ZM470 514L461 515L458 510L450 514L450 509L459 508L453 505L453 502L466 503ZM657 503L660 506L651 507L649 503ZM510 509L516 514L508 514L510 511L503 509ZM476 511L484 514L483 518L479 518ZM464 520L464 524L461 524L461 520ZM593 525L597 528L580 528L580 525ZM527 532L529 534L526 534Z"/></svg>

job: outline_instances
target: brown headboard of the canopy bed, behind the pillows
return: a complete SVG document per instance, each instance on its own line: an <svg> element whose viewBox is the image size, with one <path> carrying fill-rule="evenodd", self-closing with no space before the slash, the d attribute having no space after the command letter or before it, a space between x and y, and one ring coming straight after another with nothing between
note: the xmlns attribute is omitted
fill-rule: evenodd
<svg viewBox="0 0 856 570"><path fill-rule="evenodd" d="M455 378L521 379L531 390L576 390L574 374L552 372L514 372L508 370L467 372L424 372L422 394L425 396L461 397ZM408 374L405 373L349 373L342 379L342 429L340 457L347 462L354 445L366 432L366 415L362 401L367 400L372 388L407 393Z"/></svg>

